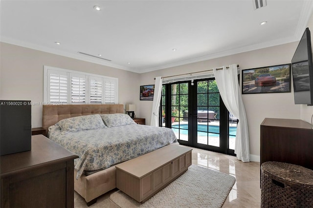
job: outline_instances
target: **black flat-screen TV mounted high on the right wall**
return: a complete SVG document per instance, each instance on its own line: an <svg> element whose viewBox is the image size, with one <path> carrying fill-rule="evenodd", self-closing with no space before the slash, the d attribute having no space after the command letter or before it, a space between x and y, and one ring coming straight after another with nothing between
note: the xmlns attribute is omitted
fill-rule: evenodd
<svg viewBox="0 0 313 208"><path fill-rule="evenodd" d="M306 28L291 60L295 104L313 104L311 33Z"/></svg>

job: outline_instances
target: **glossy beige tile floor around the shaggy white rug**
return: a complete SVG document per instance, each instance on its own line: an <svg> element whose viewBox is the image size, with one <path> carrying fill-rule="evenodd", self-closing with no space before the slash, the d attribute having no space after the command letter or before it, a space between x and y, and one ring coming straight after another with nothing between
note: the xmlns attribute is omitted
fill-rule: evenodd
<svg viewBox="0 0 313 208"><path fill-rule="evenodd" d="M221 171L236 178L222 208L260 208L260 163L243 163L236 157L193 148L192 164ZM100 196L89 208L118 208L111 200L114 190ZM74 193L74 207L87 208L85 200Z"/></svg>

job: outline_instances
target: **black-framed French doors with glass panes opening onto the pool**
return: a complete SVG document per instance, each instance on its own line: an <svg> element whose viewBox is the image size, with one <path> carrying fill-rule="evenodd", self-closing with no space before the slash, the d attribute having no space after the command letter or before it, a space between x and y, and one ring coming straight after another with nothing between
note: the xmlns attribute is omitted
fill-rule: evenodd
<svg viewBox="0 0 313 208"><path fill-rule="evenodd" d="M237 120L229 116L214 78L164 84L160 109L160 125L172 128L179 144L234 154Z"/></svg>

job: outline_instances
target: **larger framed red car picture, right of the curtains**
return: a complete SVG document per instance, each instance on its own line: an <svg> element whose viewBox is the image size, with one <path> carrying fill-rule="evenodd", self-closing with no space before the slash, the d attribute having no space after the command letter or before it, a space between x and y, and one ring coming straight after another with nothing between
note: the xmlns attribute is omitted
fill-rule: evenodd
<svg viewBox="0 0 313 208"><path fill-rule="evenodd" d="M242 70L242 94L291 92L291 64Z"/></svg>

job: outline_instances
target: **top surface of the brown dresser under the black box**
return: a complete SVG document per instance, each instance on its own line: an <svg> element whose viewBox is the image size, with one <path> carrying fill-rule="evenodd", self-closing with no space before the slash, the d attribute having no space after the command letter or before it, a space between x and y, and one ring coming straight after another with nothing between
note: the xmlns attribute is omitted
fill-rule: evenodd
<svg viewBox="0 0 313 208"><path fill-rule="evenodd" d="M44 135L35 135L31 137L30 151L0 157L1 177L75 158L78 158L78 156L49 140Z"/></svg>

